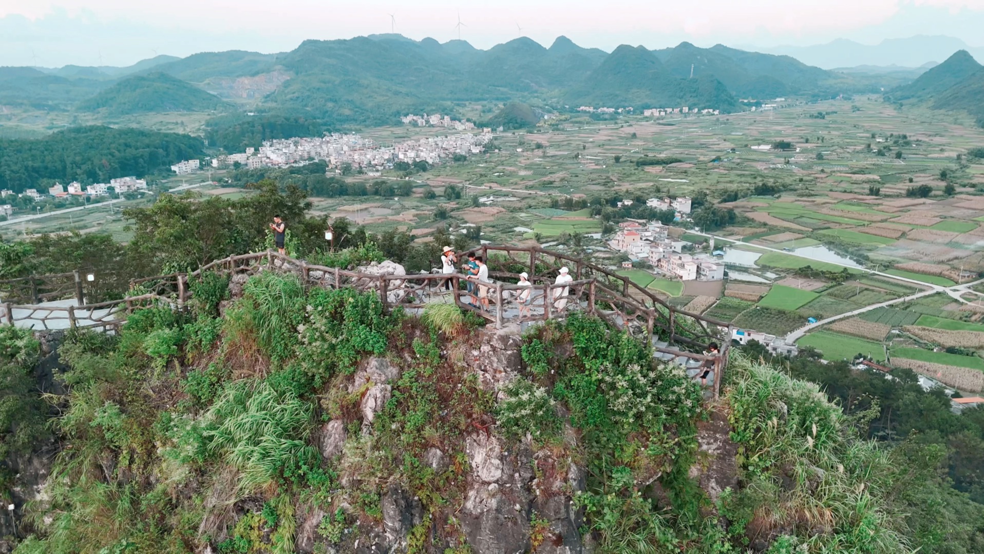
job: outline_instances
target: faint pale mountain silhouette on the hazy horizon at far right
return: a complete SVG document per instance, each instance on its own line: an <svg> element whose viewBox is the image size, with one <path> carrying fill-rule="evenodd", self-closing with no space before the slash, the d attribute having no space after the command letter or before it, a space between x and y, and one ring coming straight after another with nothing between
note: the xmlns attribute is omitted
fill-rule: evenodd
<svg viewBox="0 0 984 554"><path fill-rule="evenodd" d="M827 44L813 46L775 46L762 48L744 46L769 54L792 56L804 64L825 69L870 66L902 66L918 68L927 62L949 58L957 50L966 50L978 61L984 62L984 48L972 48L952 36L927 36L890 38L875 45L861 44L846 38L838 38Z"/></svg>

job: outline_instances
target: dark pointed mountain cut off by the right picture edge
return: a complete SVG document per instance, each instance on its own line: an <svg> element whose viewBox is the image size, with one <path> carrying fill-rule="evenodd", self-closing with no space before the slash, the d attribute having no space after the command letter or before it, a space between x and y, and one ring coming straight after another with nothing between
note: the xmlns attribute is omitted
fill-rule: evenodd
<svg viewBox="0 0 984 554"><path fill-rule="evenodd" d="M926 102L933 109L963 110L984 126L984 66L966 50L959 50L912 83L890 90L886 99L903 105Z"/></svg>

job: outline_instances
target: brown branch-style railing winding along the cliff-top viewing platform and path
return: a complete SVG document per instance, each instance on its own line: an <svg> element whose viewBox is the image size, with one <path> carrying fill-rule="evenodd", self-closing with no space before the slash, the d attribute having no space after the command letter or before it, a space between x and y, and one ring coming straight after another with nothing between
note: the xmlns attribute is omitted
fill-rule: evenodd
<svg viewBox="0 0 984 554"><path fill-rule="evenodd" d="M309 264L305 260L268 250L218 259L191 273L135 279L131 281L131 290L140 289L142 294L120 301L68 307L8 303L4 305L4 319L15 325L19 321L40 321L45 329L50 328L49 323L63 328L65 320L72 328L111 329L125 322L126 315L138 306L156 303L181 308L191 298L189 280L197 279L206 272L252 275L272 270L295 274L307 287L376 292L387 310L400 307L412 311L436 302L454 302L499 328L509 323L562 318L574 311L596 314L633 335L645 337L664 358L682 357L701 364L709 361L714 369L715 395L720 390L721 373L731 337L727 322L669 305L624 276L560 252L538 247L494 246L483 246L473 251L487 260L489 275L495 279L492 283L481 285L487 287L489 310L462 300L462 297L468 298L468 294L462 291L462 282L467 280L467 276L461 273L376 275ZM562 266L569 268L574 280L558 285L555 280ZM514 283L523 271L529 275L529 287ZM447 289L449 281L450 291ZM479 284L474 283L474 286ZM516 301L524 291L529 292L529 300L521 306ZM477 291L474 296L477 296ZM16 314L17 311L21 313ZM720 345L719 353L699 354L707 351L711 342Z"/></svg>

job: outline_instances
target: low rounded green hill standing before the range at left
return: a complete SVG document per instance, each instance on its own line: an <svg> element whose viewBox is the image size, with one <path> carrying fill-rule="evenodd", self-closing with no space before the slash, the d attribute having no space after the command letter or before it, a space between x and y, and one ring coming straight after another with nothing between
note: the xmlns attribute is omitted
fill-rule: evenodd
<svg viewBox="0 0 984 554"><path fill-rule="evenodd" d="M79 103L82 111L105 110L112 115L150 112L204 112L222 109L225 102L191 83L164 73L128 77Z"/></svg>

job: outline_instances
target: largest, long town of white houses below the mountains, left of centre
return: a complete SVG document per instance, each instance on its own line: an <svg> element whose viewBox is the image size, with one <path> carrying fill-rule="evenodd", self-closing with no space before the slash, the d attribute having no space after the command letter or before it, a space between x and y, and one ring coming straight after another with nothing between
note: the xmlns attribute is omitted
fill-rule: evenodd
<svg viewBox="0 0 984 554"><path fill-rule="evenodd" d="M353 169L363 169L373 175L383 169L392 168L400 161L413 163L424 160L434 164L455 154L478 154L491 139L492 131L483 129L479 134L428 137L386 146L354 134L326 134L324 137L314 138L264 140L259 149L246 148L245 152L223 154L213 158L211 163L215 168L238 163L248 169L256 169L325 160L330 168L337 171L348 164ZM171 169L180 175L179 169L185 168L178 166Z"/></svg>

